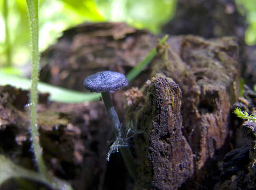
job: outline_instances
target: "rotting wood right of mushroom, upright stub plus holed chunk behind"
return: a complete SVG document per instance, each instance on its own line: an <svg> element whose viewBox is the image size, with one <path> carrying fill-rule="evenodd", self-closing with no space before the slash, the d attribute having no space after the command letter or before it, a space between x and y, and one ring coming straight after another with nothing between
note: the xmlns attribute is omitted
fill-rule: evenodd
<svg viewBox="0 0 256 190"><path fill-rule="evenodd" d="M170 37L167 43L159 50L158 58L153 61L150 76L162 73L166 77L171 77L181 88L183 96L179 99L182 101L183 121L179 120L179 116L173 116L173 112L179 114L179 109L167 109L166 107L165 101L174 101L178 98L173 94L172 87L165 87L164 82L159 82L163 87L159 85L155 87L156 84L151 81L150 85L156 90L152 90L154 88L150 85L151 88L143 90L145 96L148 94L144 103L141 103L144 106L139 108L135 106L127 110L128 120L131 118L135 120L139 130L145 131L145 134L150 136L149 138L145 135L142 138L144 140L135 143L135 147L144 145L144 151L138 150L136 153L140 155L141 152L144 155L144 157L139 156L138 159L144 167L148 167L141 169L143 166L139 166L140 176L144 177L138 179L137 187L138 189L142 187L196 189L196 183L210 188L214 181L205 176L216 172L217 160L221 159L227 150L230 150L231 147L227 141L234 137L229 126L229 112L231 105L238 98L238 43L231 37L204 40L197 36ZM132 95L129 96L132 97ZM130 102L136 101L129 96ZM169 117L175 122L169 124ZM182 130L182 133L176 131L176 134L171 134L170 126ZM183 140L175 140L184 137L189 146ZM182 164L175 162L176 156L172 154L172 148L166 148L169 150L169 155L163 153L161 148L163 139L165 139L165 146L175 147L176 153L181 154L184 160L178 159L179 162L186 161L185 178L173 177L173 173L177 176L180 173L175 167L171 171L166 169L174 163L175 166ZM166 143L166 139L173 139L173 141ZM190 148L191 151L189 151ZM179 151L182 149L183 151ZM186 152L186 155L181 152ZM152 155L157 155L157 159L153 159ZM159 168L169 175L159 172ZM210 173L209 170L211 170Z"/></svg>

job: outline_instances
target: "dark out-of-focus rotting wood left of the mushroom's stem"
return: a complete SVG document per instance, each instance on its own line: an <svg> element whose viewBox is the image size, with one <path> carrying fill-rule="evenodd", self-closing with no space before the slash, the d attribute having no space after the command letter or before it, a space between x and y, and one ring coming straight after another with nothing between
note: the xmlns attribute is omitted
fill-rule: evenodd
<svg viewBox="0 0 256 190"><path fill-rule="evenodd" d="M49 172L71 181L75 189L101 188L106 172L107 141L112 134L105 110L100 108L103 103L50 103L48 96L39 96L38 126ZM29 91L1 86L0 97L0 152L14 163L35 170L29 107L26 107ZM11 189L10 185L7 187Z"/></svg>

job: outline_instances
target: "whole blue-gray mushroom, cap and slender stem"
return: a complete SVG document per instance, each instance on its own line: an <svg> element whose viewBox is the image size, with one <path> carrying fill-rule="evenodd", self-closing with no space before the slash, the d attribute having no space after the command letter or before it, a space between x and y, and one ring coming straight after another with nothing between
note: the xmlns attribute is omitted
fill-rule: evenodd
<svg viewBox="0 0 256 190"><path fill-rule="evenodd" d="M84 79L84 88L90 90L91 92L100 92L105 107L107 109L108 115L111 119L111 124L113 127L113 132L117 138L125 140L123 138L123 132L125 129L122 129L120 124L117 112L113 106L113 103L110 98L110 93L115 92L116 90L126 87L128 82L124 74L113 71L102 71L90 75ZM134 162L134 157L131 154L131 151L128 146L119 146L122 157L124 158L126 167L129 174L132 178L136 179L136 167ZM107 158L108 159L108 158Z"/></svg>

